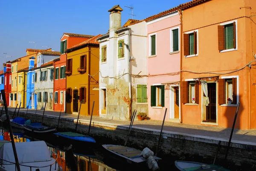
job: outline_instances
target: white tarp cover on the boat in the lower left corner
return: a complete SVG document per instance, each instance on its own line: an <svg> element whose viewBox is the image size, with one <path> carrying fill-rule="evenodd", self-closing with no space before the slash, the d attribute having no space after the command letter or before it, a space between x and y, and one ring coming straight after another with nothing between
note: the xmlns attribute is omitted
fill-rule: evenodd
<svg viewBox="0 0 256 171"><path fill-rule="evenodd" d="M50 161L51 154L44 141L16 142L19 163ZM15 163L12 143L5 143L0 149L0 158ZM8 164L9 162L3 162Z"/></svg>

